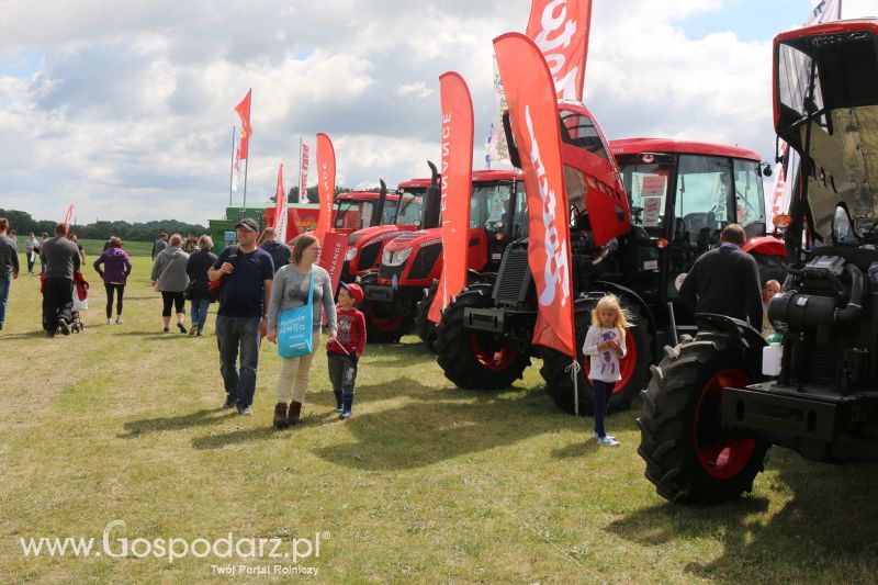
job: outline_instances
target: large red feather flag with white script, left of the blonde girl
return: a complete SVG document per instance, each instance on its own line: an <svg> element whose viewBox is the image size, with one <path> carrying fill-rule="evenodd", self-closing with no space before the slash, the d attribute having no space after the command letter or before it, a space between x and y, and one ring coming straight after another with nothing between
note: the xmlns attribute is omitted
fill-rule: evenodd
<svg viewBox="0 0 878 585"><path fill-rule="evenodd" d="M528 263L539 297L532 341L576 356L570 284L570 212L552 75L540 49L525 35L508 33L495 38L494 52L528 196Z"/></svg>

